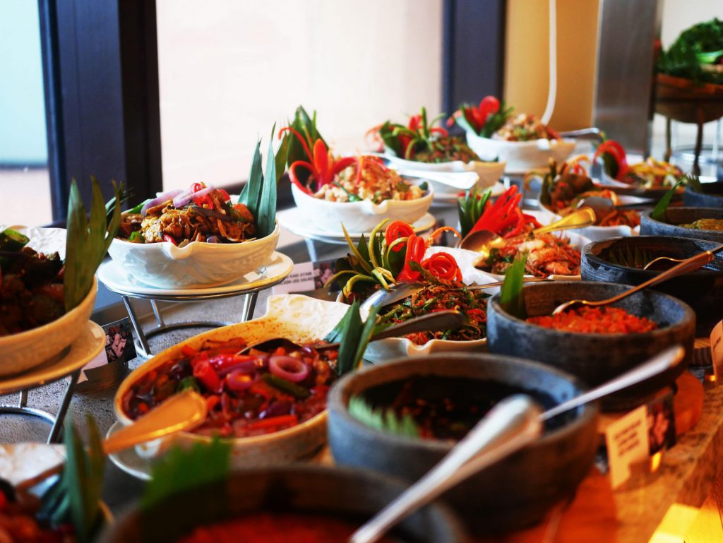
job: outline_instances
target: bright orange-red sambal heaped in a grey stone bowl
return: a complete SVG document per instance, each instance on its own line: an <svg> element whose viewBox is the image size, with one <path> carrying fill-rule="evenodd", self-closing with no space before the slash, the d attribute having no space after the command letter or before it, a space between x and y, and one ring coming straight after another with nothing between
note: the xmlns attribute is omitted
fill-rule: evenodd
<svg viewBox="0 0 723 543"><path fill-rule="evenodd" d="M655 322L646 317L636 317L636 315L630 315L625 309L609 306L581 306L557 315L529 317L527 322L545 328L587 334L643 333L658 328Z"/></svg>

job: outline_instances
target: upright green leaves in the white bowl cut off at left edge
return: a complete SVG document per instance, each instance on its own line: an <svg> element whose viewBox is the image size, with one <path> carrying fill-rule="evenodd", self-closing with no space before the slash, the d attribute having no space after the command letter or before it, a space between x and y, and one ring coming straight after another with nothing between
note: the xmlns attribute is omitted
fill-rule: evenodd
<svg viewBox="0 0 723 543"><path fill-rule="evenodd" d="M76 307L90 292L93 286L95 270L106 257L108 247L116 236L121 223L121 208L113 206L111 220L106 219L106 204L103 193L95 177L93 182L93 199L90 203L90 221L85 217L80 190L72 180L68 201L67 239L65 243L65 275L64 297L65 310ZM123 200L124 186L113 182L116 202Z"/></svg>

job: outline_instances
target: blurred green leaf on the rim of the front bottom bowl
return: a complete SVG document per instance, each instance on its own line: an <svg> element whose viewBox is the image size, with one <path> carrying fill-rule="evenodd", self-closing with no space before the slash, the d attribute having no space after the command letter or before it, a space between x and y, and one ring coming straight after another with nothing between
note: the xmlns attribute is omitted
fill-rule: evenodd
<svg viewBox="0 0 723 543"><path fill-rule="evenodd" d="M214 437L210 443L197 442L189 448L174 447L158 458L140 501L150 510L166 498L226 479L231 468L231 442Z"/></svg>

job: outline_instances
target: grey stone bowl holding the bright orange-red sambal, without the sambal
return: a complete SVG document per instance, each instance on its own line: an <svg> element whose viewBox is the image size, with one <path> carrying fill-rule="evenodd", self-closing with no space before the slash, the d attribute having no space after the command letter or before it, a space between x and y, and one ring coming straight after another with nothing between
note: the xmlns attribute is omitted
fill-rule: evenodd
<svg viewBox="0 0 723 543"><path fill-rule="evenodd" d="M523 288L530 317L550 315L573 299L603 300L631 288L614 283L552 281ZM641 405L658 390L672 385L693 356L696 315L688 304L656 291L644 290L615 304L633 315L648 317L657 330L633 334L587 334L553 330L513 317L500 307L500 294L487 302L489 351L524 356L578 377L594 387L627 372L669 346L680 343L685 360L677 367L633 387L607 396L604 411L624 411Z"/></svg>

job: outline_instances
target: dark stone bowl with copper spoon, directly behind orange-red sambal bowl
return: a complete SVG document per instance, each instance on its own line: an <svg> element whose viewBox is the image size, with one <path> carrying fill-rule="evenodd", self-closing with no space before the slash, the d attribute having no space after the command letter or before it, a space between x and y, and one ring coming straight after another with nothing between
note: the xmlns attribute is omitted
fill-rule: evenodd
<svg viewBox="0 0 723 543"><path fill-rule="evenodd" d="M665 236L635 236L594 241L583 247L581 275L583 281L603 281L639 285L659 275L659 271L632 268L610 262L609 255L618 251L645 251L649 257L690 258L718 247L715 241ZM723 252L705 268L654 286L683 300L696 312L696 337L708 337L723 318Z"/></svg>

